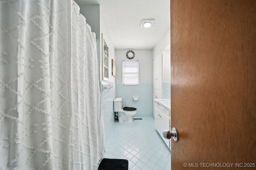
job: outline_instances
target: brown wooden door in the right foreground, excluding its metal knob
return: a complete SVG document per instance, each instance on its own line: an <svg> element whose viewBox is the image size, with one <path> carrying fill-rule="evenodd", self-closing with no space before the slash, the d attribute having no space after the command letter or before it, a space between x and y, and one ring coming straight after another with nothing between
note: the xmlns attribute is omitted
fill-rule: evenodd
<svg viewBox="0 0 256 170"><path fill-rule="evenodd" d="M255 169L255 0L171 0L171 126L172 170Z"/></svg>

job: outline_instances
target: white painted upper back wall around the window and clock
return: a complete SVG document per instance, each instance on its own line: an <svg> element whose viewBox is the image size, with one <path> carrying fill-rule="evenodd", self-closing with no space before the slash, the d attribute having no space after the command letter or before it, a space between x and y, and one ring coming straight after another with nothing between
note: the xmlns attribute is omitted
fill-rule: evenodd
<svg viewBox="0 0 256 170"><path fill-rule="evenodd" d="M132 60L139 61L139 83L152 83L152 50L150 49L116 49L116 83L122 83L122 61L126 58L126 52L132 50L135 57Z"/></svg>

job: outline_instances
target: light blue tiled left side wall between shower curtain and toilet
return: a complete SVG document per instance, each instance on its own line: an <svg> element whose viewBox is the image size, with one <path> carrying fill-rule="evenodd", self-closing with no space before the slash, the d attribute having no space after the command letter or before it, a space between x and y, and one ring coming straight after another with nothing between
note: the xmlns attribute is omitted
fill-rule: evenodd
<svg viewBox="0 0 256 170"><path fill-rule="evenodd" d="M106 89L102 92L102 81L100 81L101 100L102 100L102 112L104 115L104 139L105 147L108 143L112 128L114 126L114 104L113 101L116 97L116 84L109 82L110 89Z"/></svg>

